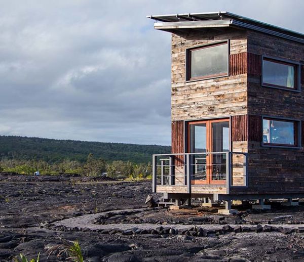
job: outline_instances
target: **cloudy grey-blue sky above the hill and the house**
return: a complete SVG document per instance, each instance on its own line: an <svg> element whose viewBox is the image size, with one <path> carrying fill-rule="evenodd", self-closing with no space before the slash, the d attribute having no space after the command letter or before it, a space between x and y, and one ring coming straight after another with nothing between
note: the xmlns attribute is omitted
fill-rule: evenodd
<svg viewBox="0 0 304 262"><path fill-rule="evenodd" d="M304 33L300 0L0 0L0 135L170 145L168 32L228 11Z"/></svg>

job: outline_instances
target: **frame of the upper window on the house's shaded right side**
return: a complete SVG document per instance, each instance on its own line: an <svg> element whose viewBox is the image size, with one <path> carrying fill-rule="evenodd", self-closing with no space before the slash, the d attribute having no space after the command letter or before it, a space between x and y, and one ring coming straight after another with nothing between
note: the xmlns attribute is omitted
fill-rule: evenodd
<svg viewBox="0 0 304 262"><path fill-rule="evenodd" d="M261 57L261 86L265 88L274 88L274 89L280 89L280 90L287 90L291 92L300 92L301 91L301 81L300 81L300 76L301 76L301 66L300 63L292 60L287 60L287 59L282 59L282 58L277 58L277 57L270 57L270 56L262 56ZM278 63L278 64L284 64L284 65L291 65L294 67L294 82L295 86L294 88L288 88L287 86L282 86L282 85L276 85L276 84L271 84L271 83L265 83L264 82L264 74L263 74L263 61L267 60L270 62Z"/></svg>

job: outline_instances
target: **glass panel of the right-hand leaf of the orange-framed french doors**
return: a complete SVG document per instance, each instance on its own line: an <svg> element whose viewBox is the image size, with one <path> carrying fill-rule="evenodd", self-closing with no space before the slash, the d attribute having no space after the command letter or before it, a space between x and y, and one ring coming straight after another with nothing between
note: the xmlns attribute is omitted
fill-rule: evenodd
<svg viewBox="0 0 304 262"><path fill-rule="evenodd" d="M229 121L212 123L212 152L229 151ZM226 154L212 154L212 180L226 180Z"/></svg>

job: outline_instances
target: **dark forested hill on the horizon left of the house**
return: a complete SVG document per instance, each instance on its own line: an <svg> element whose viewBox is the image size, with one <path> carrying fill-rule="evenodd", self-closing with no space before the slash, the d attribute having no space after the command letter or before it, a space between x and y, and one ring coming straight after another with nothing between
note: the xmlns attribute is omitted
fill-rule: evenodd
<svg viewBox="0 0 304 262"><path fill-rule="evenodd" d="M170 146L0 136L1 158L45 160L49 163L61 162L64 159L85 162L89 153L106 161L147 163L151 162L152 154L170 152Z"/></svg>

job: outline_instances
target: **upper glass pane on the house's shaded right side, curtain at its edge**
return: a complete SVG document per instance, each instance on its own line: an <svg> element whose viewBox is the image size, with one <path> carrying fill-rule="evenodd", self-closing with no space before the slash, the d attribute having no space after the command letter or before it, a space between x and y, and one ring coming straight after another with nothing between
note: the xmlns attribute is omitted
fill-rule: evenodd
<svg viewBox="0 0 304 262"><path fill-rule="evenodd" d="M293 65L263 60L263 83L295 88Z"/></svg>

